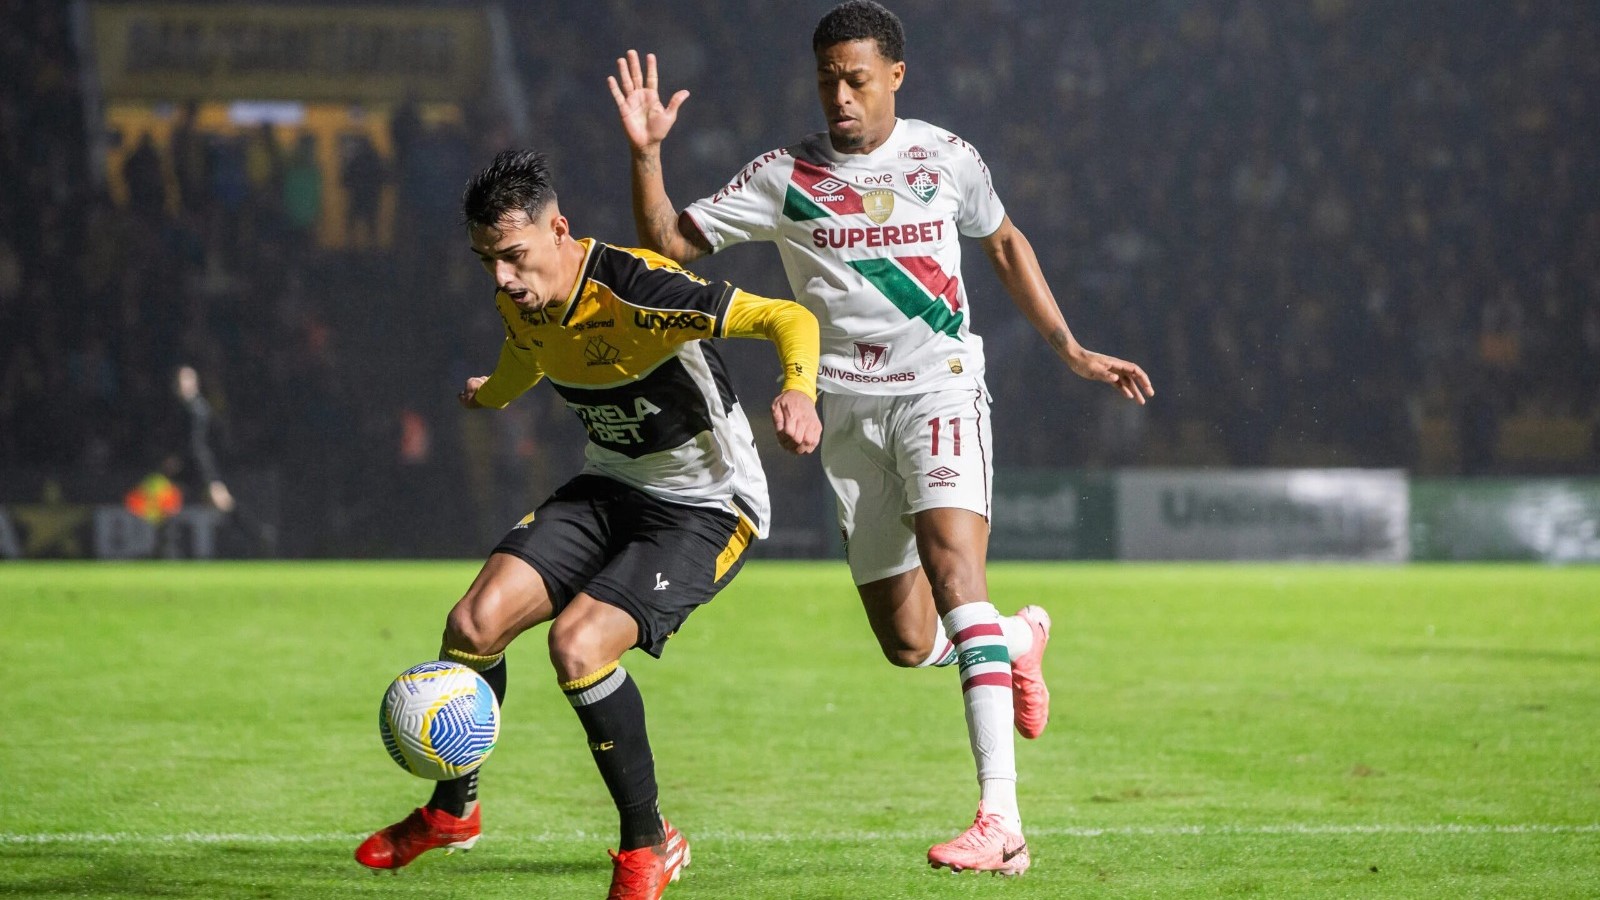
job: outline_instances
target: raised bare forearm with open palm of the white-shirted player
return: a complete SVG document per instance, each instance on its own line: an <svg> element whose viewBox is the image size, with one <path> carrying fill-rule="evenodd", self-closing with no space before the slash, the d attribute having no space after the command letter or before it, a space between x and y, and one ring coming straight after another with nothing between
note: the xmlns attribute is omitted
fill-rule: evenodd
<svg viewBox="0 0 1600 900"><path fill-rule="evenodd" d="M638 242L662 256L690 263L710 253L710 243L680 221L661 171L661 141L672 131L678 107L690 93L678 91L662 104L659 83L656 54L646 53L640 66L637 50L618 58L616 75L606 78L634 157L634 226L638 229Z"/></svg>

